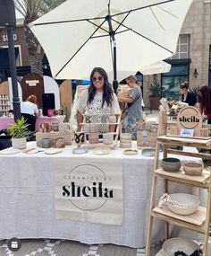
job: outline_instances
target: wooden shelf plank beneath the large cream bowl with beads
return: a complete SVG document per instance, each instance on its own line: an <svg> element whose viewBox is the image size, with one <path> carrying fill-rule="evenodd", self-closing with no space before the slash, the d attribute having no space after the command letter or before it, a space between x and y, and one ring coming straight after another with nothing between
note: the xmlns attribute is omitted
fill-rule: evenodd
<svg viewBox="0 0 211 256"><path fill-rule="evenodd" d="M206 207L198 207L195 213L188 216L181 216L173 213L168 207L155 207L152 210L152 215L159 216L170 224L177 225L178 222L183 227L190 228L190 226L192 226L193 230L204 233L203 224L206 220L206 212Z"/></svg>

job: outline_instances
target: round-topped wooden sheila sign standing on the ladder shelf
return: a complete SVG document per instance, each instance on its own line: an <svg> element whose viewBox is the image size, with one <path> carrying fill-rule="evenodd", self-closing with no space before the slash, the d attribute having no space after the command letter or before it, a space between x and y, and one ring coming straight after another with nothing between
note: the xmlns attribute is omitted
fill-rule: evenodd
<svg viewBox="0 0 211 256"><path fill-rule="evenodd" d="M187 106L180 110L177 115L177 132L181 134L181 129L193 129L194 137L200 136L200 129L202 128L202 117L199 110L195 107Z"/></svg>

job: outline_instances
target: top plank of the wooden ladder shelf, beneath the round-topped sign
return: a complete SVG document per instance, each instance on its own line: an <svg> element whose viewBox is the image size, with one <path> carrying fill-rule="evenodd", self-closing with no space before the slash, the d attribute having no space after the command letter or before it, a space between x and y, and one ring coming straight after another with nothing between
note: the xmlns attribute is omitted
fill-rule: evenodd
<svg viewBox="0 0 211 256"><path fill-rule="evenodd" d="M159 136L157 141L163 144L178 145L178 146L194 146L209 148L211 146L211 139L200 139L193 137L176 137L176 136Z"/></svg>

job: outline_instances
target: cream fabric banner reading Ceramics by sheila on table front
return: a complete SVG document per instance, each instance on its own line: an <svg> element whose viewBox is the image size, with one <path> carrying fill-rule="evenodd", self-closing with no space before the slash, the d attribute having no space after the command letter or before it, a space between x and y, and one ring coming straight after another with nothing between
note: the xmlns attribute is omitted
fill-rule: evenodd
<svg viewBox="0 0 211 256"><path fill-rule="evenodd" d="M108 225L121 225L122 160L56 158L55 214Z"/></svg>

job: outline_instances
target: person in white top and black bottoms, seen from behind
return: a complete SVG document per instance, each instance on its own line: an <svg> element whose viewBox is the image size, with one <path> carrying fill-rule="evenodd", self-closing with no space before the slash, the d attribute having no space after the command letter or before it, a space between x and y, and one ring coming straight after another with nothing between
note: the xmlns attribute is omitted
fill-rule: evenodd
<svg viewBox="0 0 211 256"><path fill-rule="evenodd" d="M29 130L31 132L35 131L36 118L38 118L38 105L37 97L31 94L26 102L21 102L21 116L27 120L29 124Z"/></svg>

